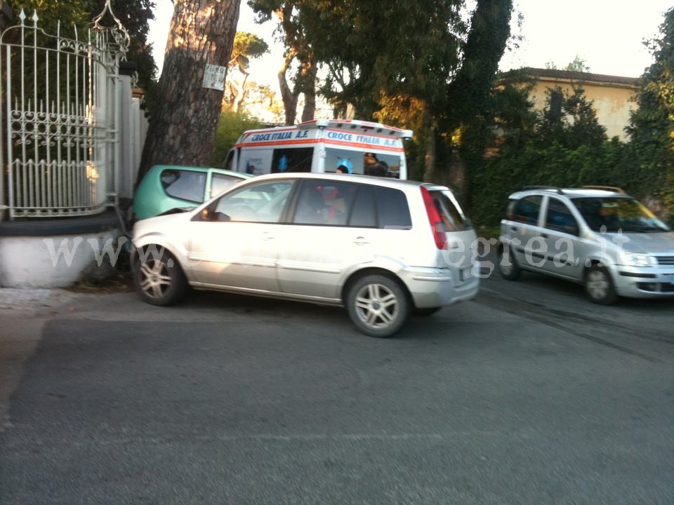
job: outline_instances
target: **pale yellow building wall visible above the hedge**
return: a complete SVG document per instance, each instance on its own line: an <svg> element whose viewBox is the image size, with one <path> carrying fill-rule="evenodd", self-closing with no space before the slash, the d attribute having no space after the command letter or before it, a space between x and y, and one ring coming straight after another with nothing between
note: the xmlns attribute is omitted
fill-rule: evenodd
<svg viewBox="0 0 674 505"><path fill-rule="evenodd" d="M534 107L542 110L546 103L546 90L560 86L564 93L573 93L573 83L569 79L546 79L541 77L536 81L531 91ZM630 121L630 111L636 107L631 102L636 91L636 86L619 83L583 82L585 95L593 101L593 107L597 112L597 121L606 128L609 138L617 136L620 140L628 140L624 128Z"/></svg>

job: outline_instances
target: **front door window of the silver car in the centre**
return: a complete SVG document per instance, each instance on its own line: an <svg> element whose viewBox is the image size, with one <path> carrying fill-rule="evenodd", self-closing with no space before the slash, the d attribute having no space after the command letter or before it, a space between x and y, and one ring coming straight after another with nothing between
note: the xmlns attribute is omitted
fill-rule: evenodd
<svg viewBox="0 0 674 505"><path fill-rule="evenodd" d="M280 222L292 180L259 182L223 195L213 209L212 220Z"/></svg>

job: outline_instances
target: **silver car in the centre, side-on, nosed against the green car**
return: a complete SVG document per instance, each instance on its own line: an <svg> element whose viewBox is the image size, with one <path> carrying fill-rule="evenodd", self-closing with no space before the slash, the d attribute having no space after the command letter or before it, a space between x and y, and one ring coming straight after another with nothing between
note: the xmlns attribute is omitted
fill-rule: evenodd
<svg viewBox="0 0 674 505"><path fill-rule="evenodd" d="M133 228L145 302L185 287L343 305L367 335L475 297L475 231L446 187L365 175L284 173Z"/></svg>

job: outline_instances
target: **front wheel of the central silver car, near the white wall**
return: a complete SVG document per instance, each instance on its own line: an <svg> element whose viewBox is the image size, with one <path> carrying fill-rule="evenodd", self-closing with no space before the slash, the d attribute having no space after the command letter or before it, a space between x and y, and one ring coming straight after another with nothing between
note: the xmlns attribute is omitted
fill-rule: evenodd
<svg viewBox="0 0 674 505"><path fill-rule="evenodd" d="M136 256L133 285L144 302L166 307L183 298L187 279L176 258L168 251L164 250L159 259L145 252Z"/></svg>

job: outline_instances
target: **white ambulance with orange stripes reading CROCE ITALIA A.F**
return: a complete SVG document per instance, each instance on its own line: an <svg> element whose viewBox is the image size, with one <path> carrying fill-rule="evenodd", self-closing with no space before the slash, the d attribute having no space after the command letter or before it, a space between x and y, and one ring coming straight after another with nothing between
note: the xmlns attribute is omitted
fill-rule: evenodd
<svg viewBox="0 0 674 505"><path fill-rule="evenodd" d="M369 121L315 119L244 132L225 168L250 175L342 172L407 179L403 141L411 130ZM345 170L346 169L346 170Z"/></svg>

